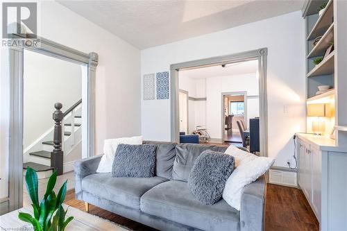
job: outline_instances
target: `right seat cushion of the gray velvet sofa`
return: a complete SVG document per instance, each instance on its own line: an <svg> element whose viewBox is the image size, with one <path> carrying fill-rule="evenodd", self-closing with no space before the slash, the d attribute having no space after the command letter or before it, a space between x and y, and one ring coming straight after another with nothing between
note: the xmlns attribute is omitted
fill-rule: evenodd
<svg viewBox="0 0 347 231"><path fill-rule="evenodd" d="M141 211L200 230L239 230L239 212L225 200L204 205L190 193L187 183L170 180L141 198Z"/></svg>

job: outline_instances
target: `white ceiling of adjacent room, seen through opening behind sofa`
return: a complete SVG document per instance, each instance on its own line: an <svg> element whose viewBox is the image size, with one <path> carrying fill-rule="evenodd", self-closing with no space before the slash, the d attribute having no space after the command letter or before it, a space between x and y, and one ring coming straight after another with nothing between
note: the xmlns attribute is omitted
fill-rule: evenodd
<svg viewBox="0 0 347 231"><path fill-rule="evenodd" d="M180 71L180 78L211 78L218 76L235 76L240 74L254 73L258 69L258 61L237 62L226 67L221 65L214 67L201 67L198 69L182 70Z"/></svg>

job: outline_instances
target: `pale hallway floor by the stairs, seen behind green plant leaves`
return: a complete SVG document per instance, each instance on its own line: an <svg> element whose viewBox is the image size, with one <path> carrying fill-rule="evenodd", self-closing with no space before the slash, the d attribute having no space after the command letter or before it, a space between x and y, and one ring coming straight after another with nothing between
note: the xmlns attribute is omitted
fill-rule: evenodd
<svg viewBox="0 0 347 231"><path fill-rule="evenodd" d="M43 198L44 192L46 191L46 186L49 178L46 179L40 179L39 180L39 200ZM62 174L62 176L58 176L56 187L54 187L54 191L56 194L58 194L58 191L62 184L67 180L67 190L74 189L75 187L75 179L74 179L74 171L69 171L68 173ZM25 177L23 178L23 206L30 206L31 205L31 199L28 195L28 191L26 190L25 185Z"/></svg>

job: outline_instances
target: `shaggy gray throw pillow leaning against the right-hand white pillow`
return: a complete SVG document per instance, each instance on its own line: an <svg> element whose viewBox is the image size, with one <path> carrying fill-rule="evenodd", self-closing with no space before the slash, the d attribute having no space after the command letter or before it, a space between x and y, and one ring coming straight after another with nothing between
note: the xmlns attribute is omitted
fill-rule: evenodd
<svg viewBox="0 0 347 231"><path fill-rule="evenodd" d="M188 188L202 203L213 205L221 199L235 160L232 155L206 150L196 158L188 178Z"/></svg>

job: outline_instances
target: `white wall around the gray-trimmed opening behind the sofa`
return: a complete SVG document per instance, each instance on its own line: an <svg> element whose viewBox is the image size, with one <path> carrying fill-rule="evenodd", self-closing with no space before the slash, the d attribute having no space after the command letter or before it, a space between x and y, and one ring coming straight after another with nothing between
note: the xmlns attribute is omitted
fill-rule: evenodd
<svg viewBox="0 0 347 231"><path fill-rule="evenodd" d="M305 131L304 21L301 12L265 19L141 51L141 74L167 71L171 64L268 48L269 153L287 166L291 136ZM288 110L283 110L287 106ZM144 139L170 140L170 100L142 101Z"/></svg>

